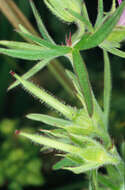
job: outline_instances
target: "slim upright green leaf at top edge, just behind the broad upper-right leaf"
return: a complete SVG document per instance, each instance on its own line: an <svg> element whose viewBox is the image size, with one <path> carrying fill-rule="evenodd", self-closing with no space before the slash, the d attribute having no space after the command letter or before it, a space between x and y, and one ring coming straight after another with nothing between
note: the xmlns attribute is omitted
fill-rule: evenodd
<svg viewBox="0 0 125 190"><path fill-rule="evenodd" d="M95 28L102 22L103 18L103 0L98 0L98 15L95 23Z"/></svg>

